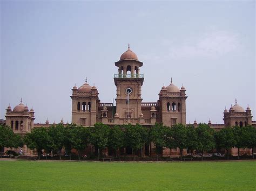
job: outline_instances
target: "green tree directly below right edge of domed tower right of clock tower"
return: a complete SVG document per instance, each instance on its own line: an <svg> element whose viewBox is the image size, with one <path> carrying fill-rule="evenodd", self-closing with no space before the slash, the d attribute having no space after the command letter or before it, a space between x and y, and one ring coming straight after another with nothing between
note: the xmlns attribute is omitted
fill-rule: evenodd
<svg viewBox="0 0 256 191"><path fill-rule="evenodd" d="M171 127L174 146L180 150L180 160L182 160L183 149L187 147L187 129L183 124L175 124Z"/></svg>

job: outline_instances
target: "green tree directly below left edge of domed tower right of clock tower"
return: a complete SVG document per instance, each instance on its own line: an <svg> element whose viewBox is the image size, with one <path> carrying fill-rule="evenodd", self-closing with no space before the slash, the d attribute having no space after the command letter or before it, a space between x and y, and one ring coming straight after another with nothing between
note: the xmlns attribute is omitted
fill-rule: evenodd
<svg viewBox="0 0 256 191"><path fill-rule="evenodd" d="M157 153L157 161L158 154L160 154L161 150L166 147L165 142L166 128L163 123L156 123L149 132L149 139L156 145L156 153Z"/></svg>

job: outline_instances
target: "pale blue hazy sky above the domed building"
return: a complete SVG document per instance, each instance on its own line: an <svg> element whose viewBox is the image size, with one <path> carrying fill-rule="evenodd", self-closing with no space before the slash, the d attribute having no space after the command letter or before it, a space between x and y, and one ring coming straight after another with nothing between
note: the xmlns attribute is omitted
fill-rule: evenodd
<svg viewBox="0 0 256 191"><path fill-rule="evenodd" d="M128 43L144 62L143 102L172 77L187 89L187 123L223 123L235 98L256 115L255 1L1 1L0 118L22 97L35 123L71 122L86 76L112 102Z"/></svg>

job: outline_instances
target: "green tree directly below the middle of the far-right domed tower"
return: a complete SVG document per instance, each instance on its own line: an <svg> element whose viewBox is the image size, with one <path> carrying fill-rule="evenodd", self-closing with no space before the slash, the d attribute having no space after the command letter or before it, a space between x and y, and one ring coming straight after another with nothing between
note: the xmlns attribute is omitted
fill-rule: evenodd
<svg viewBox="0 0 256 191"><path fill-rule="evenodd" d="M237 147L237 155L239 159L239 148L245 148L246 147L246 131L244 127L240 126L234 126L233 127L233 133L234 133L234 140L235 140L235 147Z"/></svg>

